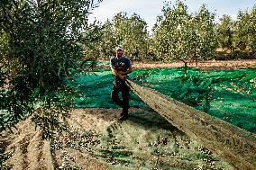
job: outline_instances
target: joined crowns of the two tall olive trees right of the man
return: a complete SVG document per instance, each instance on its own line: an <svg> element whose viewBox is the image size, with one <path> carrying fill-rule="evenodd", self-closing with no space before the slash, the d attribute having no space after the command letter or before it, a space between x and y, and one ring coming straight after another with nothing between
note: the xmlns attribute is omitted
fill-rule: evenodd
<svg viewBox="0 0 256 170"><path fill-rule="evenodd" d="M181 1L162 9L154 27L154 42L158 58L166 61L211 58L215 54L215 14L203 5L198 13L187 12Z"/></svg>

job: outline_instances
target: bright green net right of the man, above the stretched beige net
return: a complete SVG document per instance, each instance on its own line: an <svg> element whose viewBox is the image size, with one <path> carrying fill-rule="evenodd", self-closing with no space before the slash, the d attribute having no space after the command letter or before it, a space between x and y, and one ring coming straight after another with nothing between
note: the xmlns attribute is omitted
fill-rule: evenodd
<svg viewBox="0 0 256 170"><path fill-rule="evenodd" d="M208 70L190 69L183 76L182 68L142 70L145 84L207 112L244 130L256 133L256 73L253 69ZM140 71L139 71L140 72Z"/></svg>

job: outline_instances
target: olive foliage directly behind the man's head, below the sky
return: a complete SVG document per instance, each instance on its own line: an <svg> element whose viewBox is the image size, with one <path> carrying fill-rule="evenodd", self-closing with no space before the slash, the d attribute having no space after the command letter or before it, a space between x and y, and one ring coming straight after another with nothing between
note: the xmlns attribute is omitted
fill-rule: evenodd
<svg viewBox="0 0 256 170"><path fill-rule="evenodd" d="M125 56L131 59L146 58L149 49L146 26L147 23L136 13L131 17L127 13L115 14L112 21L98 23L98 27L103 30L102 36L90 48L85 48L87 57L108 59L115 55L114 47L122 44Z"/></svg>

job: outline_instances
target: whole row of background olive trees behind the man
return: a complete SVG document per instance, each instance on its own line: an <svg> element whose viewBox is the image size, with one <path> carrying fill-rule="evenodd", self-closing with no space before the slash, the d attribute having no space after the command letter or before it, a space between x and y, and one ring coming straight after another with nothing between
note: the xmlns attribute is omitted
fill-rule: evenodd
<svg viewBox="0 0 256 170"><path fill-rule="evenodd" d="M123 44L125 55L132 59L188 61L206 59L253 58L256 52L256 6L251 11L239 12L237 20L224 14L215 22L202 4L195 13L188 13L182 1L164 4L152 34L147 23L136 13L117 13L112 20L98 23L103 28L102 41L94 52L95 58L108 59L114 46Z"/></svg>

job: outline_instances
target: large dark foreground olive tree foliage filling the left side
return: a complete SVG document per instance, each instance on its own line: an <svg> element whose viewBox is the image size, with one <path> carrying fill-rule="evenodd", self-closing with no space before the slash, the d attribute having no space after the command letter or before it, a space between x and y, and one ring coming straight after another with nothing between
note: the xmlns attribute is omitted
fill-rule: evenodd
<svg viewBox="0 0 256 170"><path fill-rule="evenodd" d="M87 24L93 7L93 0L1 1L1 130L28 115L44 138L65 129L75 93L67 77L84 57L81 43L98 31Z"/></svg>

